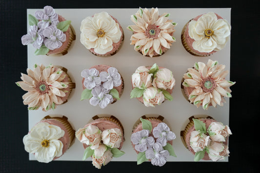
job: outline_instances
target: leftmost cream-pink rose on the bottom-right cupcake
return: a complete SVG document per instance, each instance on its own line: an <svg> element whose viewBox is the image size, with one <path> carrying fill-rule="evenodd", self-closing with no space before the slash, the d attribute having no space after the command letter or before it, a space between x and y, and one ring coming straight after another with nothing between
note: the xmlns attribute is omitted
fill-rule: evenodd
<svg viewBox="0 0 260 173"><path fill-rule="evenodd" d="M200 133L199 131L192 131L190 136L190 146L195 153L203 151L203 149L210 144L209 136Z"/></svg>

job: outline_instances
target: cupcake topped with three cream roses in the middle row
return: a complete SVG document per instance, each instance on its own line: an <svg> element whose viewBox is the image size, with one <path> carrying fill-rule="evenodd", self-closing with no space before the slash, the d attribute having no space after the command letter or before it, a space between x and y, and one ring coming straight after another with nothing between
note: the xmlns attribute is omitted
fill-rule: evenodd
<svg viewBox="0 0 260 173"><path fill-rule="evenodd" d="M165 99L172 101L171 96L175 78L172 71L153 66L140 66L132 75L132 87L130 98L137 99L146 107L160 105Z"/></svg>

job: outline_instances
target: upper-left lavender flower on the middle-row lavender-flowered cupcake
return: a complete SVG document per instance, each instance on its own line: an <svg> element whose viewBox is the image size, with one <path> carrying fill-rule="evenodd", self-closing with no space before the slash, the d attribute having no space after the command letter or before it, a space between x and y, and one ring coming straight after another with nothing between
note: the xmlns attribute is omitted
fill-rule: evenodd
<svg viewBox="0 0 260 173"><path fill-rule="evenodd" d="M84 86L89 90L96 86L100 86L101 80L100 77L98 77L99 74L100 72L95 68L83 70L81 72L81 77L85 78L83 82Z"/></svg>

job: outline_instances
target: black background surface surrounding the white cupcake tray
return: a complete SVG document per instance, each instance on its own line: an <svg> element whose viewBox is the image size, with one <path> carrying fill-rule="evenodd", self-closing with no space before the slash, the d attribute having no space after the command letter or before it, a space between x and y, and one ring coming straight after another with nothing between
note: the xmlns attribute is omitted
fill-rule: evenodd
<svg viewBox="0 0 260 173"><path fill-rule="evenodd" d="M258 0L0 0L0 172L259 172L260 111L260 12ZM29 161L22 137L28 133L27 106L22 104L24 91L15 84L20 73L26 74L27 47L20 38L27 33L26 9L43 8L232 8L229 162L167 162L163 167L150 163L110 162L101 170L86 161L54 161L48 164Z"/></svg>

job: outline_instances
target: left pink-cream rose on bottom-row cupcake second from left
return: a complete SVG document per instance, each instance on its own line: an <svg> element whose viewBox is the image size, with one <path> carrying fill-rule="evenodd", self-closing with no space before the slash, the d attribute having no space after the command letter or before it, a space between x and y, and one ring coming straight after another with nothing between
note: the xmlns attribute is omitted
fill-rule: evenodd
<svg viewBox="0 0 260 173"><path fill-rule="evenodd" d="M99 148L101 131L97 126L89 125L86 128L80 128L75 135L82 144L89 145L92 150Z"/></svg>

